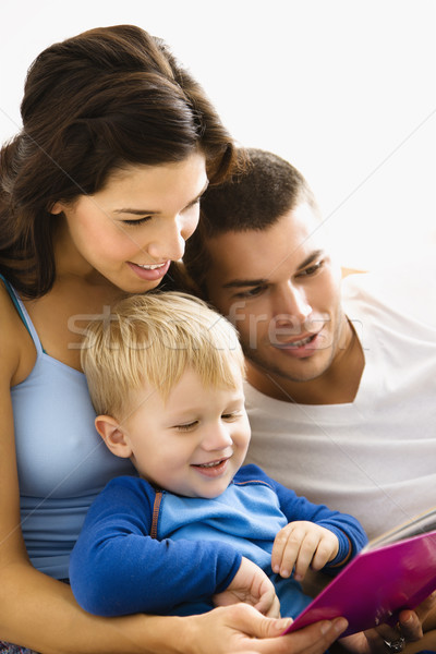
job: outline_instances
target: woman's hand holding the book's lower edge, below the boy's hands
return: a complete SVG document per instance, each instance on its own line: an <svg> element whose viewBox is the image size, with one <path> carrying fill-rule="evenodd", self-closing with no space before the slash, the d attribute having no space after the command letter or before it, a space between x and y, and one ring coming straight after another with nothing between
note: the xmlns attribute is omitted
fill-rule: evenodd
<svg viewBox="0 0 436 654"><path fill-rule="evenodd" d="M267 618L244 603L183 620L191 621L184 654L324 654L347 628L344 618L336 618L280 635L291 618Z"/></svg>

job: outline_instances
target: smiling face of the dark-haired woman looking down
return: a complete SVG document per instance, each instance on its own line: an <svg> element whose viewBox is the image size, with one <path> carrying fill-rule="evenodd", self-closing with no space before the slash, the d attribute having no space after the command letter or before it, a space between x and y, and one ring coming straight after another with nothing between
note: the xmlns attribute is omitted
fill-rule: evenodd
<svg viewBox="0 0 436 654"><path fill-rule="evenodd" d="M156 288L183 255L206 186L205 157L195 153L180 162L129 167L94 195L56 203L51 213L65 220L58 271L97 272L129 293Z"/></svg>

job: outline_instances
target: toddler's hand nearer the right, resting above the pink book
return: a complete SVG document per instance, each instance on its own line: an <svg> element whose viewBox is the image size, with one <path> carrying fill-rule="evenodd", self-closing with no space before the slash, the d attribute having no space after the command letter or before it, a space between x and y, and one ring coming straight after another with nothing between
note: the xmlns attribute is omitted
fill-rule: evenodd
<svg viewBox="0 0 436 654"><path fill-rule="evenodd" d="M272 571L290 577L295 567L294 579L301 581L310 566L320 570L336 557L338 550L339 541L328 529L305 520L290 522L274 541Z"/></svg>

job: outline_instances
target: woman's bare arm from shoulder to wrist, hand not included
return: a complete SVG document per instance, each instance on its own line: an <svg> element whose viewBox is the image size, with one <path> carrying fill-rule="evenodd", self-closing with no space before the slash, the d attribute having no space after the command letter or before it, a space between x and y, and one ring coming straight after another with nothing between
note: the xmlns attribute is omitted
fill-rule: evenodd
<svg viewBox="0 0 436 654"><path fill-rule="evenodd" d="M22 382L35 359L32 340L0 284L0 639L44 654L177 652L182 623L168 618L121 620L83 611L71 589L33 568L21 532L10 387ZM160 633L160 643L159 643ZM155 646L156 645L156 646Z"/></svg>

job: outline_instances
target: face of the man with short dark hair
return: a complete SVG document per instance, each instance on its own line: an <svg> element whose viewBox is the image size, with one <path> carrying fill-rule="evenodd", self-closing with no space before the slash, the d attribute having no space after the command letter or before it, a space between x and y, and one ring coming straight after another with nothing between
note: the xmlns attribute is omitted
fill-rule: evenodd
<svg viewBox="0 0 436 654"><path fill-rule="evenodd" d="M237 326L257 374L284 388L287 380L323 375L340 350L340 271L320 232L312 208L301 204L264 231L207 241L208 300Z"/></svg>

